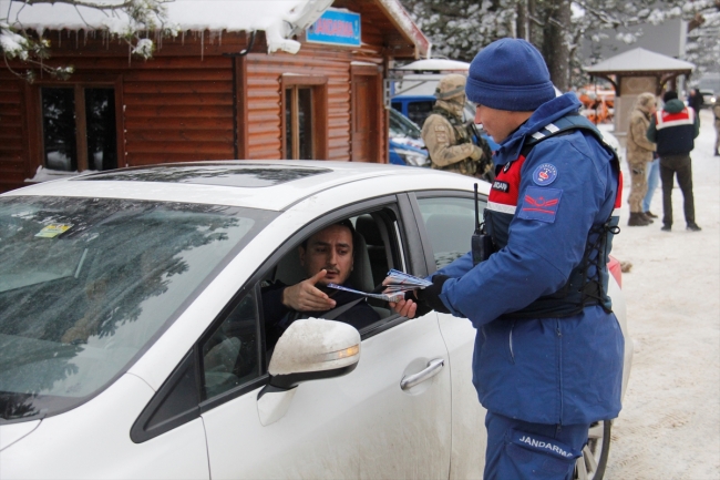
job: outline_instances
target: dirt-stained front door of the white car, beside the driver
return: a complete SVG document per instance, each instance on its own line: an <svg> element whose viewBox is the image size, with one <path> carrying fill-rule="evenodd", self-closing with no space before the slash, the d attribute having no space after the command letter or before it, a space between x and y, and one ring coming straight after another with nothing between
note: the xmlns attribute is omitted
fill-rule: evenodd
<svg viewBox="0 0 720 480"><path fill-rule="evenodd" d="M412 273L424 275L423 254L413 248L415 219L405 223L399 212L392 197L327 215L291 236L253 282L259 285L312 232L363 215L382 227L390 263L384 267L420 266ZM253 292L257 295L259 287ZM390 315L361 334L357 369L300 384L287 412L272 423L264 426L258 416L259 387L241 391L241 384L230 379L224 385L235 381L236 387L208 398L202 418L212 478L448 478L451 385L436 315L413 320ZM428 375L429 369L436 375ZM416 374L426 375L426 381L402 389L401 380Z"/></svg>

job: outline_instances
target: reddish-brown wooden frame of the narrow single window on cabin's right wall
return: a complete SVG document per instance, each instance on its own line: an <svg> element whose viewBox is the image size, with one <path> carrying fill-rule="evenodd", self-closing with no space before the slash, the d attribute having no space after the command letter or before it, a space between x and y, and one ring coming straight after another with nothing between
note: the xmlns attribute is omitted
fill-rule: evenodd
<svg viewBox="0 0 720 480"><path fill-rule="evenodd" d="M289 159L291 155L287 149L285 109L290 99L287 98L286 91L298 88L309 88L312 92L312 159L328 160L328 78L323 75L285 74L281 76L280 139L282 157Z"/></svg>

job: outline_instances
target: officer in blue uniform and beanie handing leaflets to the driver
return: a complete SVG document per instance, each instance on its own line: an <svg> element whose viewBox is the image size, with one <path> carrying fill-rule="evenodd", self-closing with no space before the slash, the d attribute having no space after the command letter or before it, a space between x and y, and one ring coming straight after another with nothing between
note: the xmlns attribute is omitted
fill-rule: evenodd
<svg viewBox="0 0 720 480"><path fill-rule="evenodd" d="M486 480L569 479L589 425L620 410L624 338L607 295L619 165L524 40L483 49L466 93L501 144L484 214L494 253L459 258L394 308L451 313L477 329Z"/></svg>

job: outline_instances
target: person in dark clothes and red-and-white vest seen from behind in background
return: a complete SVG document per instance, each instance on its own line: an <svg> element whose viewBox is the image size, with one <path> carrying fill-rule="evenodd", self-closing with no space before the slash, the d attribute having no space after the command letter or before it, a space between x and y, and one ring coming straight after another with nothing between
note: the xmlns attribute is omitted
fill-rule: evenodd
<svg viewBox="0 0 720 480"><path fill-rule="evenodd" d="M665 105L650 121L647 136L657 144L660 156L660 180L662 182L662 232L672 229L672 186L678 177L683 197L685 222L690 232L700 232L695 222L695 198L692 196L692 161L690 152L700 133L697 112L678 100L678 93L665 92Z"/></svg>

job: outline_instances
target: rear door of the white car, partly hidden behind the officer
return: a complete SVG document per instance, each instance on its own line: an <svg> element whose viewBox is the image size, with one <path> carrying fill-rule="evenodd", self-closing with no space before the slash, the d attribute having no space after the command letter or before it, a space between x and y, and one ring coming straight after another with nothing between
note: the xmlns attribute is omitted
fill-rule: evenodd
<svg viewBox="0 0 720 480"><path fill-rule="evenodd" d="M475 201L467 192L422 192L411 195L421 224L423 243L430 246L428 270L450 264L470 251L475 224ZM479 212L485 208L479 202ZM482 478L486 446L485 409L477 401L472 384L475 328L470 320L438 314L448 346L452 379L452 458L451 479Z"/></svg>

